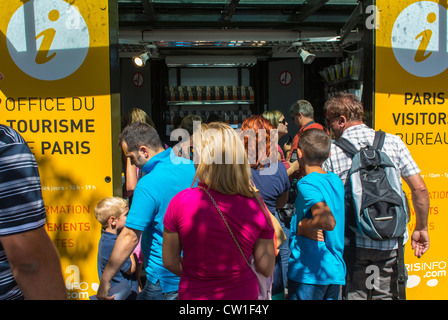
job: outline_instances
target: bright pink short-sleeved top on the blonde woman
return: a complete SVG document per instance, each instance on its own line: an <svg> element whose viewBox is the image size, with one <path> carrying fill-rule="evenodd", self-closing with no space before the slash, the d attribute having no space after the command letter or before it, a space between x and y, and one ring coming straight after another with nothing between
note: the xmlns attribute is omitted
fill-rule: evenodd
<svg viewBox="0 0 448 320"><path fill-rule="evenodd" d="M258 238L274 237L274 229L257 199L212 189L209 192L248 260ZM189 188L178 193L171 200L163 223L169 231L179 234L182 244L179 300L257 299L257 278L202 189Z"/></svg>

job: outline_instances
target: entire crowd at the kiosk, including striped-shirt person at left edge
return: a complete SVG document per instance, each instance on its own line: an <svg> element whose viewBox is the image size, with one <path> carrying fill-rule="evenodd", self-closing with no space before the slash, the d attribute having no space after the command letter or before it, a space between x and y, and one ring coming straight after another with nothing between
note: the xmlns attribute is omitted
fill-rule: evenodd
<svg viewBox="0 0 448 320"><path fill-rule="evenodd" d="M169 147L142 110L131 110L119 138L123 197L95 208L102 226L95 299L257 300L266 297L262 289L275 300L404 299L399 241L410 238L417 257L429 248L420 170L387 134L383 149L412 192L415 229L387 241L351 235L345 185L352 159L334 140L362 148L375 130L352 94L336 94L324 111L325 126L308 101L294 102L289 116L299 132L283 146L277 141L288 122L278 110L247 118L240 130L188 116L180 122L188 139ZM33 187L40 185L36 162L3 125L0 163L0 299L65 299L40 187ZM373 287L366 285L372 265L379 270Z"/></svg>

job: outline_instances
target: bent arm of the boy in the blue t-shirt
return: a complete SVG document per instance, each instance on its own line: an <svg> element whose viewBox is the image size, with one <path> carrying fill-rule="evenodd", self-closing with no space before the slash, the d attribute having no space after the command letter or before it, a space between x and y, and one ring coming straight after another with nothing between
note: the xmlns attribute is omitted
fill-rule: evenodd
<svg viewBox="0 0 448 320"><path fill-rule="evenodd" d="M311 207L311 213L313 215L311 219L305 218L299 222L297 235L303 235L312 240L323 241L322 230L333 230L336 226L336 219L325 202L318 202L313 205Z"/></svg>

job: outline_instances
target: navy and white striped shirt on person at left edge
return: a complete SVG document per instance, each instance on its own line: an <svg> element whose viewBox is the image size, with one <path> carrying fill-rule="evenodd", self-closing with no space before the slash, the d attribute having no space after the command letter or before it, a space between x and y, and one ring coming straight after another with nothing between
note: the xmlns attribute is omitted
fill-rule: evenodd
<svg viewBox="0 0 448 320"><path fill-rule="evenodd" d="M46 212L34 155L15 130L0 124L0 300L21 299L1 237L42 227Z"/></svg>

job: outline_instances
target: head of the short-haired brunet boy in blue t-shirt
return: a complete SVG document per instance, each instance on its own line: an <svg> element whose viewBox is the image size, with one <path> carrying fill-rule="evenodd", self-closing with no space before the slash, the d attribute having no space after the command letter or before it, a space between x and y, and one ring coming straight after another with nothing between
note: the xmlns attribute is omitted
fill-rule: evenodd
<svg viewBox="0 0 448 320"><path fill-rule="evenodd" d="M330 156L331 138L324 130L308 129L300 135L298 148L311 164L321 165Z"/></svg>

